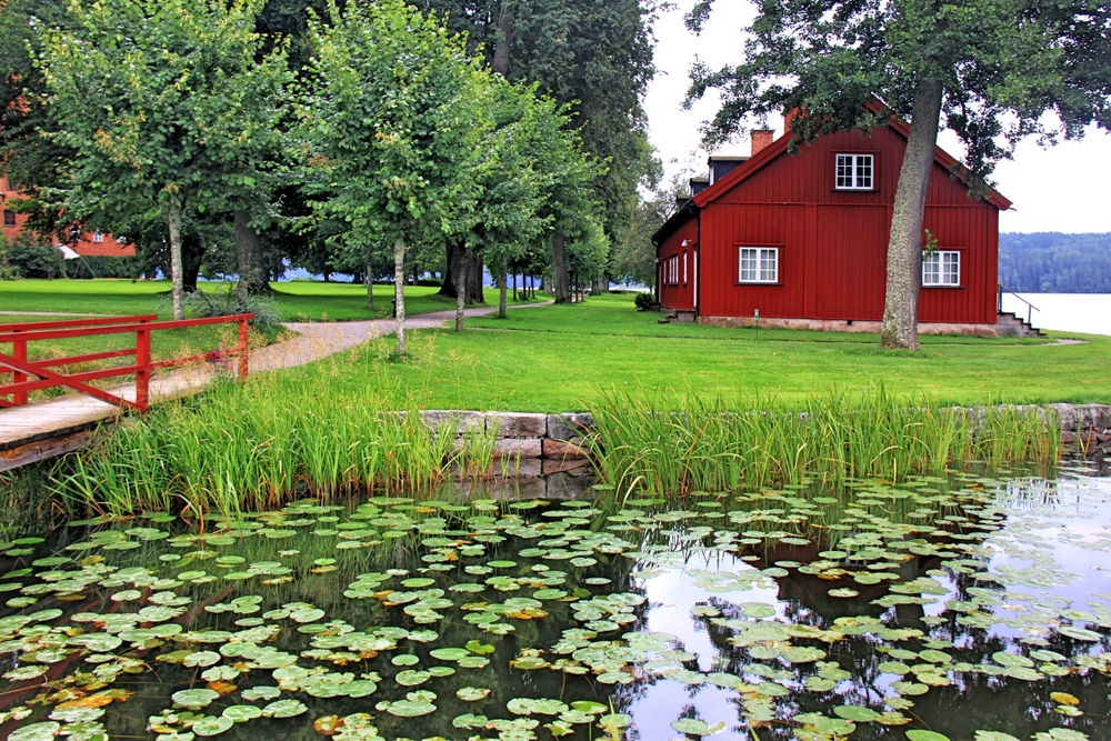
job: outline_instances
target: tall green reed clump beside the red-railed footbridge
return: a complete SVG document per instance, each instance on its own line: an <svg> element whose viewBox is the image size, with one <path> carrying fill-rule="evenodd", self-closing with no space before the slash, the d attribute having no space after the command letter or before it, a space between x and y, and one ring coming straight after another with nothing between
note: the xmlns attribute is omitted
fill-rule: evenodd
<svg viewBox="0 0 1111 741"><path fill-rule="evenodd" d="M73 457L57 493L71 510L114 515L260 511L293 495L427 491L489 454L484 440L434 433L417 408L381 379L362 390L292 373L221 382L116 425Z"/></svg>

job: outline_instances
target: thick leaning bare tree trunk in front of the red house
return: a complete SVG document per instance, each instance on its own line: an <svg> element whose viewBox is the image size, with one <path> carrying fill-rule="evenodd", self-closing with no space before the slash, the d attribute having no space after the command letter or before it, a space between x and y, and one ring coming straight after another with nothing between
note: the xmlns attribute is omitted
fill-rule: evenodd
<svg viewBox="0 0 1111 741"><path fill-rule="evenodd" d="M922 219L933 170L943 87L922 80L914 93L907 153L899 171L888 241L888 287L883 300L884 348L918 350L918 299L922 290Z"/></svg>

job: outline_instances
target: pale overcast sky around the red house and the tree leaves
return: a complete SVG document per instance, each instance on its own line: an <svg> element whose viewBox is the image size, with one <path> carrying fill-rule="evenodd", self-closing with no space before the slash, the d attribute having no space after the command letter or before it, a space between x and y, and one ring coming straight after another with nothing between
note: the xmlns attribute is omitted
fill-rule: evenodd
<svg viewBox="0 0 1111 741"><path fill-rule="evenodd" d="M663 13L655 26L655 66L659 73L649 86L644 108L649 136L668 173L697 161L704 169L707 152L698 150L699 124L713 116L715 101L703 100L691 111L681 110L688 70L695 57L711 68L735 63L742 53L740 29L752 14L749 2L718 0L707 29L695 37L683 26L683 13L693 0L679 0L678 9ZM782 121L772 122L782 134ZM941 146L954 156L961 150L955 138L941 134ZM748 154L749 142L722 147L720 154ZM677 162L672 162L675 160ZM1094 128L1079 142L1042 149L1032 140L1019 144L1014 159L995 170L999 191L1014 202L1000 216L1000 230L1015 232L1111 232L1111 136Z"/></svg>

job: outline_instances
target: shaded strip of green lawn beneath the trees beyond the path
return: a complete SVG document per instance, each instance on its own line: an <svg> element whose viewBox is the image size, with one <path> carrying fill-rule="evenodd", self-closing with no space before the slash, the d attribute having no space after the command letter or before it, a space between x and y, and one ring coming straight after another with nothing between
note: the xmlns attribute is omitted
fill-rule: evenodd
<svg viewBox="0 0 1111 741"><path fill-rule="evenodd" d="M226 283L201 283L202 290L227 290ZM272 283L284 321L347 321L387 317L392 286L374 287L374 310L367 308L362 284L292 281ZM438 288L406 288L406 311L422 314L453 309L454 299L437 296ZM59 311L128 316L170 314L170 283L164 280L18 280L0 281L0 311ZM498 292L487 290L486 301L497 306ZM7 322L0 317L0 322Z"/></svg>

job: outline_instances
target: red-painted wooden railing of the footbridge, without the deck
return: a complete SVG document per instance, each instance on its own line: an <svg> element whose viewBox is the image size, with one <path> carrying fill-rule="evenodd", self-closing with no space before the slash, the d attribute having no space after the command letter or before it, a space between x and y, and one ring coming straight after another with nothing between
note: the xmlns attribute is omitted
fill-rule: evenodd
<svg viewBox="0 0 1111 741"><path fill-rule="evenodd" d="M234 314L210 319L156 321L158 319L157 314L141 314L136 317L80 319L76 321L0 324L0 346L11 344L12 347L11 354L0 352L0 372L8 371L12 374L11 383L0 385L0 408L26 404L28 393L31 391L64 387L94 397L101 401L107 401L110 404L147 411L150 401L150 377L154 371L174 366L219 360L226 357L239 359L239 375L246 379L248 371L247 323L253 318L254 314ZM233 349L212 350L211 352L201 352L170 360L151 360L150 336L152 332L229 323L239 324L239 340ZM136 336L136 347L133 348L47 360L28 360L27 356L27 347L30 342L131 333ZM52 368L64 368L77 363L132 356L134 357L134 362L128 366L116 366L77 373L61 373L51 370ZM116 395L89 383L90 381L118 375L136 377L134 401ZM34 380L32 380L32 377L34 377Z"/></svg>

